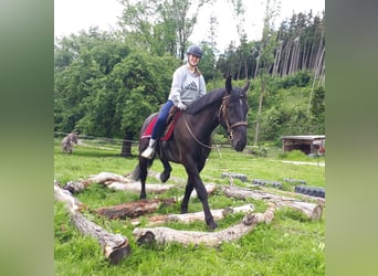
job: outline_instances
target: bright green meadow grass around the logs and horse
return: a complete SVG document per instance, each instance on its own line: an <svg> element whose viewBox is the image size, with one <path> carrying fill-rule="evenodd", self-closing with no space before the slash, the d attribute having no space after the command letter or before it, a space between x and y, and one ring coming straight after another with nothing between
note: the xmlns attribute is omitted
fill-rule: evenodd
<svg viewBox="0 0 378 276"><path fill-rule="evenodd" d="M133 148L133 150L136 150ZM72 180L87 179L91 174L103 171L126 174L137 164L135 157L119 157L120 148L101 145L99 147L77 146L73 155L63 155L59 141L54 147L54 179L61 184ZM297 153L295 153L297 155ZM323 162L297 155L297 161ZM282 181L284 178L302 179L309 185L325 187L325 168L322 166L300 166L284 163L288 156L275 155L258 158L230 149L213 151L201 172L203 182L229 184L229 179L221 178L222 172L243 173L248 182L234 179L234 184L248 187L253 179ZM180 164L171 164L175 178L186 178ZM161 171L158 160L153 171ZM156 179L148 181L157 182ZM175 183L169 180L168 183ZM181 184L182 185L182 184ZM293 190L285 183L285 190ZM175 189L159 197L182 195L183 188ZM90 185L87 190L75 195L87 204L90 210L138 200L138 194L114 191L103 185ZM149 199L156 197L147 195ZM265 209L264 202L248 200L259 212ZM242 205L245 201L230 199L221 192L209 197L212 209L229 205ZM189 212L201 211L197 199L191 199ZM179 204L160 208L157 213L178 213ZM281 209L271 224L259 224L253 232L234 243L222 244L219 248L169 244L166 246L146 247L136 244L133 238L134 226L129 220L106 221L91 212L85 215L112 233L127 236L132 254L119 265L111 266L104 259L97 241L83 236L70 222L64 205L54 203L54 268L55 275L324 275L325 274L325 214L321 221L309 221L301 213ZM234 214L218 222L219 230L240 222L242 215ZM144 226L144 225L141 225ZM177 230L207 231L203 222L167 223Z"/></svg>

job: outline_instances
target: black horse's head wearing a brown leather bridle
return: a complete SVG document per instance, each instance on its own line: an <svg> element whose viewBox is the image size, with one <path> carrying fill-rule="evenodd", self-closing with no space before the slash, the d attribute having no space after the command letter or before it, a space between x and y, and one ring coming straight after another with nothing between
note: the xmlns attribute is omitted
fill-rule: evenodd
<svg viewBox="0 0 378 276"><path fill-rule="evenodd" d="M228 130L232 147L242 151L246 145L246 93L250 82L243 88L232 87L231 76L225 79L227 96L223 97L221 106L221 125Z"/></svg>

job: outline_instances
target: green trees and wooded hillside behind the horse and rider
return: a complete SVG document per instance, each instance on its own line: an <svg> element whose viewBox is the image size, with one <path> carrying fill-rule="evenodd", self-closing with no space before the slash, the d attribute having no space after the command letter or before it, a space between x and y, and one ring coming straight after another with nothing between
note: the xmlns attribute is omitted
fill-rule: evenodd
<svg viewBox="0 0 378 276"><path fill-rule="evenodd" d="M251 81L249 144L280 146L284 135L325 134L325 21L293 13L275 28L280 1L266 1L261 40L249 41L245 7L229 1L239 42L217 49L218 19L210 15L200 70L208 92ZM211 0L130 1L119 30L90 28L55 40L54 131L123 140L129 156L144 119L166 102L174 71L185 62L198 12ZM216 142L225 141L223 129Z"/></svg>

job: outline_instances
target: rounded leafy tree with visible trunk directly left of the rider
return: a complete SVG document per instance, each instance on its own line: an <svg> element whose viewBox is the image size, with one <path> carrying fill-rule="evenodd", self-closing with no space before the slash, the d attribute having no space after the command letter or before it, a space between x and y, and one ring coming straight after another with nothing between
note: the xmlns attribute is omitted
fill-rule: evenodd
<svg viewBox="0 0 378 276"><path fill-rule="evenodd" d="M114 118L118 126L114 135L124 138L122 156L130 155L132 140L138 139L145 118L167 100L171 75L179 64L168 55L135 51L115 66L109 82L116 95Z"/></svg>

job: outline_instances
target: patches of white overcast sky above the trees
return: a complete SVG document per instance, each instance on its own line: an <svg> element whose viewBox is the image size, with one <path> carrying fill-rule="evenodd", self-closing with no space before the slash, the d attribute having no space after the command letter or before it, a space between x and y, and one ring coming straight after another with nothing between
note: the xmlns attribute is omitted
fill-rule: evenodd
<svg viewBox="0 0 378 276"><path fill-rule="evenodd" d="M245 21L244 30L249 40L260 40L264 17L264 0L244 0ZM217 0L214 8L204 7L198 15L198 24L189 38L199 43L208 36L208 19L211 13L218 18L217 47L221 52L234 41L238 45L235 21L230 6L224 0ZM290 18L293 11L307 13L313 10L317 14L325 9L325 0L281 0L281 17L275 20L279 24ZM91 26L99 30L116 30L117 21L122 15L123 6L117 0L54 0L54 36L61 38Z"/></svg>

